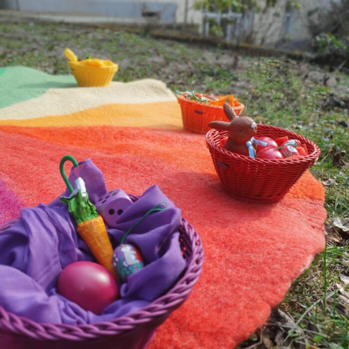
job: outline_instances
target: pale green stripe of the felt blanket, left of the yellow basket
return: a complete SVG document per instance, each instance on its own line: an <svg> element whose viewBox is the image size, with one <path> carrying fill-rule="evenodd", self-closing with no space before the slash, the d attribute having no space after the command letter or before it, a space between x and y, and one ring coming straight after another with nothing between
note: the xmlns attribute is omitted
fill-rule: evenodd
<svg viewBox="0 0 349 349"><path fill-rule="evenodd" d="M77 87L72 75L49 75L27 67L0 67L0 108L43 95L50 88Z"/></svg>

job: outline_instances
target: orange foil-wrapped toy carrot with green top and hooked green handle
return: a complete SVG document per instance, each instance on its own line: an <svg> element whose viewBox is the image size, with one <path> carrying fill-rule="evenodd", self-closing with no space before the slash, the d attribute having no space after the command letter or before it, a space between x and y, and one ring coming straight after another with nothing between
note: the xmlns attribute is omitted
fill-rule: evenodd
<svg viewBox="0 0 349 349"><path fill-rule="evenodd" d="M70 155L63 157L60 162L60 173L71 193L69 197L61 197L61 201L68 204L69 213L73 215L77 224L76 231L97 261L117 278L112 264L113 247L104 220L98 214L96 206L89 200L83 179L81 177L76 179L77 189L74 190L71 186L63 169L67 160L70 160L75 167L78 166L77 161Z"/></svg>

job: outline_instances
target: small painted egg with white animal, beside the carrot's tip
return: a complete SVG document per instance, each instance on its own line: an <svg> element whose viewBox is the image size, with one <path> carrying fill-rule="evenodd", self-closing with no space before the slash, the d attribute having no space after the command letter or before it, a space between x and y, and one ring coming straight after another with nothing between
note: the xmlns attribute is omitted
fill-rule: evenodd
<svg viewBox="0 0 349 349"><path fill-rule="evenodd" d="M113 266L121 282L144 267L143 259L135 246L122 244L114 250Z"/></svg>

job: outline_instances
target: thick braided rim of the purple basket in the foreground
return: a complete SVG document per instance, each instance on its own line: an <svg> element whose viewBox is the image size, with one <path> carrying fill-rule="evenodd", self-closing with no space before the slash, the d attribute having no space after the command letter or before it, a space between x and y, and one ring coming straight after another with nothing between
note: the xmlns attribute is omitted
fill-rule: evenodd
<svg viewBox="0 0 349 349"><path fill-rule="evenodd" d="M129 196L133 200L139 198L137 195L129 194ZM3 226L9 226L16 220L13 219L6 222ZM134 330L137 325L149 323L153 318L174 310L188 297L201 273L203 263L203 249L198 233L185 218L181 218L178 230L186 233L192 248L192 252L187 260L186 271L165 295L159 297L148 306L108 322L84 325L36 323L28 318L7 312L0 306L0 329L33 339L83 341L129 332Z"/></svg>

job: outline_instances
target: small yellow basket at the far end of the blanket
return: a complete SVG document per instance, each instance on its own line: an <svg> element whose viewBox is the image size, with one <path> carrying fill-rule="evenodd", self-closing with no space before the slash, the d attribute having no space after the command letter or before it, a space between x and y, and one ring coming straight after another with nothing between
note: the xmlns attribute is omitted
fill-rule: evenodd
<svg viewBox="0 0 349 349"><path fill-rule="evenodd" d="M68 64L81 87L108 86L119 69L117 64L110 67L94 67L75 62Z"/></svg>

